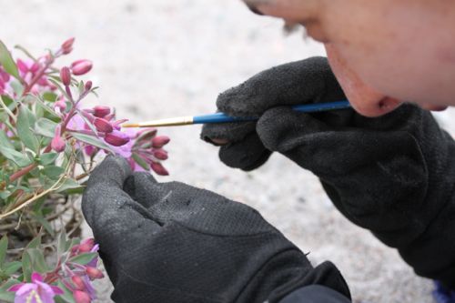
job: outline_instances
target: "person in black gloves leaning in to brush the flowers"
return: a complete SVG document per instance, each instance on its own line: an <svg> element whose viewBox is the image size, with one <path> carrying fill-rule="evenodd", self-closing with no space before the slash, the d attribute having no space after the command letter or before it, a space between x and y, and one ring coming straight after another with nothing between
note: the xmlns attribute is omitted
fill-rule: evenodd
<svg viewBox="0 0 455 303"><path fill-rule="evenodd" d="M207 125L202 138L229 167L252 170L278 152L310 170L344 216L450 294L455 143L429 110L455 105L455 2L245 1L304 25L328 58L276 66L228 89L217 108L258 122ZM289 109L345 97L354 110ZM82 207L116 302L350 301L334 264L310 264L256 210L158 183L119 157L93 172Z"/></svg>

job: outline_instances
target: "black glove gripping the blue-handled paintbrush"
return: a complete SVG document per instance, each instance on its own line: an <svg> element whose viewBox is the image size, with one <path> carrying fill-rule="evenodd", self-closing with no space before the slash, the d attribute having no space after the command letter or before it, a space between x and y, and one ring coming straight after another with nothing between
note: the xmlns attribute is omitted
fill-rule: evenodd
<svg viewBox="0 0 455 303"><path fill-rule="evenodd" d="M314 81L304 81L296 72L295 81L280 85L286 80L283 71L291 67L278 66L219 96L218 108L231 116L260 116L256 128L248 126L248 136L257 136L255 141L263 148L278 151L316 174L346 217L397 247L417 274L455 288L452 138L430 112L412 105L378 118L360 116L353 110L302 114L278 106L295 104L298 99L308 102L308 90L314 102L334 101L333 96L342 95L326 60L313 58L290 65L302 73L311 66ZM311 76L318 71L319 77ZM274 73L275 82L271 80ZM288 96L293 97L291 101L285 99ZM264 106L259 107L260 102ZM274 106L278 107L271 108ZM204 126L202 136L232 142L220 150L220 158L228 166L245 168L245 163L255 163L258 167L254 157L246 156L254 153L244 150L248 136L238 138L241 125L236 127Z"/></svg>

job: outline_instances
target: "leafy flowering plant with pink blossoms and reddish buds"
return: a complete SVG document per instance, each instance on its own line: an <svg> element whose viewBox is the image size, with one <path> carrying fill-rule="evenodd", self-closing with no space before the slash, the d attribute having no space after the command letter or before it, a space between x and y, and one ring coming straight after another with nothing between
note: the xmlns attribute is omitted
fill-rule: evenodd
<svg viewBox="0 0 455 303"><path fill-rule="evenodd" d="M126 130L109 106L85 106L96 96L79 76L92 62L56 67L74 38L55 51L14 59L0 41L0 301L90 302L101 278L97 245L80 241L78 195L96 161L126 157L134 170L167 175L167 136L154 128ZM9 239L6 237L9 234ZM57 236L60 235L60 236ZM67 239L67 236L73 238ZM29 242L29 243L27 243ZM46 263L47 255L56 261Z"/></svg>

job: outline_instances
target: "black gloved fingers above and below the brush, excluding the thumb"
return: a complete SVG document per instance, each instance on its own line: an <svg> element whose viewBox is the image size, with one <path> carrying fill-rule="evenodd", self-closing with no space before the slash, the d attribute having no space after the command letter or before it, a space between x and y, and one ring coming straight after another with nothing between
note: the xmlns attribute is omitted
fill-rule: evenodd
<svg viewBox="0 0 455 303"><path fill-rule="evenodd" d="M346 99L327 59L313 57L270 68L217 98L217 109L229 116L261 116L268 108ZM205 125L207 142L227 139L219 158L228 167L252 170L264 164L271 151L256 132L256 122Z"/></svg>

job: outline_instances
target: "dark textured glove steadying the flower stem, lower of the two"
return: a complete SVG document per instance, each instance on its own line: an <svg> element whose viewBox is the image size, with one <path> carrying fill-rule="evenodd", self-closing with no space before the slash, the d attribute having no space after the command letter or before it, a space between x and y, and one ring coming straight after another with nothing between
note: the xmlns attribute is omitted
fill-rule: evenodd
<svg viewBox="0 0 455 303"><path fill-rule="evenodd" d="M306 256L256 210L182 183L157 183L107 157L82 207L116 302L278 302L319 284L349 297L330 262Z"/></svg>

